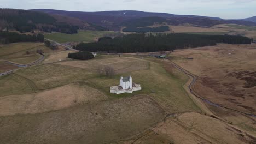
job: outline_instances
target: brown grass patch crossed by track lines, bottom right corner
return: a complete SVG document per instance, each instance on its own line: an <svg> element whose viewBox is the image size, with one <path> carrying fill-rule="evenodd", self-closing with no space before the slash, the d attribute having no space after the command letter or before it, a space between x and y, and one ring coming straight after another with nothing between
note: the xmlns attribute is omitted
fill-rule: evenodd
<svg viewBox="0 0 256 144"><path fill-rule="evenodd" d="M158 124L153 131L174 143L253 143L249 134L243 133L232 125L218 119L200 115L199 113L184 113L168 118Z"/></svg>

